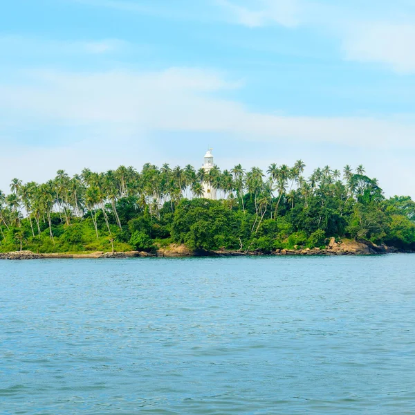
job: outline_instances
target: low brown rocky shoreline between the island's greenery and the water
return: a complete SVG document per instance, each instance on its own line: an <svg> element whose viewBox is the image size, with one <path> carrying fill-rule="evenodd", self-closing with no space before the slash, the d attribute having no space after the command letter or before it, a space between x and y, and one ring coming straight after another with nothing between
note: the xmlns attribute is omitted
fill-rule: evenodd
<svg viewBox="0 0 415 415"><path fill-rule="evenodd" d="M216 250L216 251L203 251L189 250L184 245L172 244L167 248L160 248L154 253L150 252L88 252L82 254L65 254L65 253L48 253L37 254L31 251L21 252L6 252L0 253L0 259L82 259L82 258L134 258L134 257L242 257L253 255L384 255L388 253L405 252L393 247L385 245L378 246L370 241L351 241L343 240L336 242L332 238L329 245L326 248L299 248L295 249L278 249L275 252L264 254L262 252L250 251L232 251L232 250Z"/></svg>

